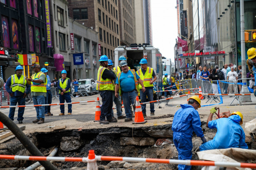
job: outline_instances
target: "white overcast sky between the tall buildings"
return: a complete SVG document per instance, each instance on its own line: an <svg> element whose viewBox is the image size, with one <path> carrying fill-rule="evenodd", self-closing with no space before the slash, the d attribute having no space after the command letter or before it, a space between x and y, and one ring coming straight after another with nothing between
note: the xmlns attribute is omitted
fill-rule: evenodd
<svg viewBox="0 0 256 170"><path fill-rule="evenodd" d="M151 0L153 45L162 56L174 62L175 39L178 36L175 0Z"/></svg>

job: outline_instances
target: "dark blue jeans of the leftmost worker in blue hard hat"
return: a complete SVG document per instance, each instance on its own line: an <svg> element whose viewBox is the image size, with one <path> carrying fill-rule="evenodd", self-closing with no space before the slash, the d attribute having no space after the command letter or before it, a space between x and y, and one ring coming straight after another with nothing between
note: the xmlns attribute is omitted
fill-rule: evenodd
<svg viewBox="0 0 256 170"><path fill-rule="evenodd" d="M8 94L9 95L9 94ZM25 105L25 98L23 98L23 95L22 96L13 96L11 97L10 99L10 102L11 102L11 105L10 106L16 106L17 102L18 102L18 105L21 106L21 105ZM24 114L24 110L25 110L25 107L20 107L19 110L18 110L18 121L19 120L23 120L23 114ZM10 111L9 111L9 118L11 120L14 120L13 117L14 117L14 112L15 112L15 108L10 108Z"/></svg>

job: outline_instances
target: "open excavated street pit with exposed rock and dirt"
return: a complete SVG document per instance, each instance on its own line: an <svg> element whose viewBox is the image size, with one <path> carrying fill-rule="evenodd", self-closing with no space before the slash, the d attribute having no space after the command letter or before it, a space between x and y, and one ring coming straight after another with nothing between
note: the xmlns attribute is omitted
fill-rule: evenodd
<svg viewBox="0 0 256 170"><path fill-rule="evenodd" d="M96 155L178 159L178 152L172 141L171 124L151 127L108 127L82 130L62 130L47 133L35 132L29 134L30 140L48 156L54 147L59 150L56 157L87 157L89 150L95 150ZM212 139L216 130L206 128L202 122L202 128L207 136ZM209 140L211 140L209 139ZM202 141L193 134L193 160L198 160L196 154ZM249 145L249 144L248 144ZM157 146L157 147L156 147ZM254 148L255 149L255 148ZM0 154L5 155L30 155L28 150L15 137L0 145ZM16 168L23 170L35 163L35 161L0 160L0 168ZM130 163L129 168L108 165L109 161L97 161L99 170L156 170L156 169L178 169L178 165L157 163ZM53 162L58 169L83 170L87 163L83 162ZM107 166L108 165L108 166ZM192 166L197 169L197 166Z"/></svg>

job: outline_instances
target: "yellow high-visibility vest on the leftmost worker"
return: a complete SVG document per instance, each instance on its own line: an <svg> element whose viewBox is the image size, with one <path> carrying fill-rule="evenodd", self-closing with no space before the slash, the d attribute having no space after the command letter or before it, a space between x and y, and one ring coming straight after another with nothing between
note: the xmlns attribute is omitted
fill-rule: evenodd
<svg viewBox="0 0 256 170"><path fill-rule="evenodd" d="M25 76L21 75L20 79L18 79L17 75L11 75L11 90L12 92L19 91L24 93L25 86L27 84Z"/></svg>

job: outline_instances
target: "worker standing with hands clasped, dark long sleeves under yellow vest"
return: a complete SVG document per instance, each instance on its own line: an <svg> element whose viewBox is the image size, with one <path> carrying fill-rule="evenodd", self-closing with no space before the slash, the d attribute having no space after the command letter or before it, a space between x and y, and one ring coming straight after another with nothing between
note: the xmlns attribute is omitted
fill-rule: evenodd
<svg viewBox="0 0 256 170"><path fill-rule="evenodd" d="M65 100L67 103L71 103L71 97L70 97L70 85L71 80L67 77L67 71L62 70L61 71L62 78L58 81L58 89L59 89L59 103L65 103ZM72 104L68 104L68 115L72 114ZM65 106L60 105L60 114L59 116L65 115Z"/></svg>

